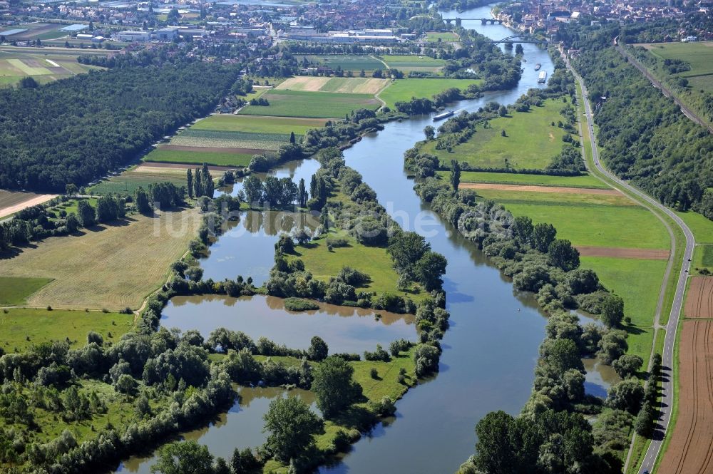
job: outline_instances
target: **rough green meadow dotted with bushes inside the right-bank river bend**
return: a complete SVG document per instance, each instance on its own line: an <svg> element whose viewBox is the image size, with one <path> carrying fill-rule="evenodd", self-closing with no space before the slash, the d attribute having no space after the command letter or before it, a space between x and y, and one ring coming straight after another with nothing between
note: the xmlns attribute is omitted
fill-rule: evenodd
<svg viewBox="0 0 713 474"><path fill-rule="evenodd" d="M478 127L470 140L453 147L451 153L436 150L436 140L424 144L421 152L437 156L442 163L458 160L478 168L543 169L562 151L565 130L551 125L563 120L562 106L560 101L549 99L529 112L490 120L488 128ZM502 136L502 130L507 136Z"/></svg>

